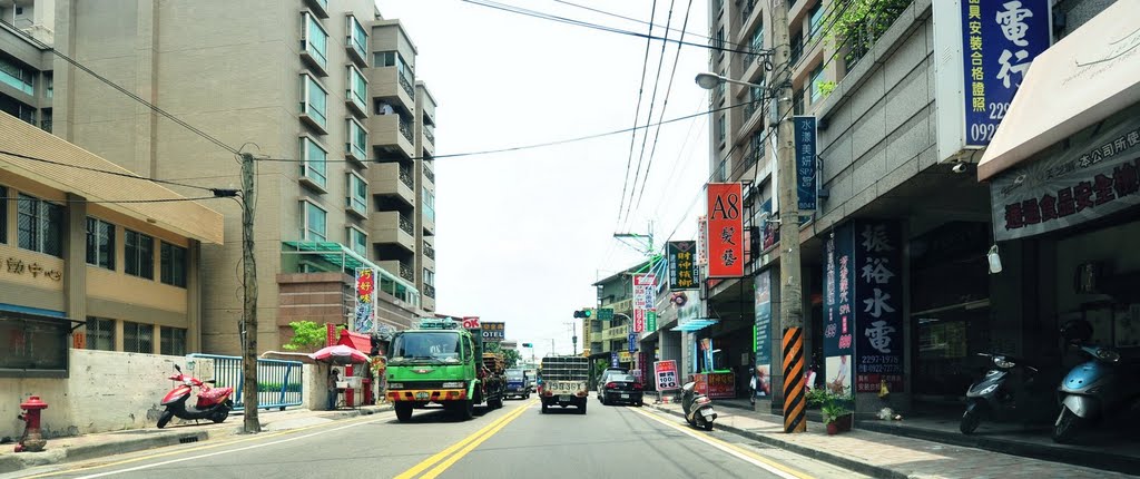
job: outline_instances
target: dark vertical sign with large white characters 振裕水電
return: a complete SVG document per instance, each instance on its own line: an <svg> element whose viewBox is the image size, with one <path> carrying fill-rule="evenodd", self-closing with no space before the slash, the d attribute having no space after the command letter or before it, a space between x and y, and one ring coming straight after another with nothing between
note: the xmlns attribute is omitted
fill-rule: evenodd
<svg viewBox="0 0 1140 479"><path fill-rule="evenodd" d="M902 391L902 228L897 221L856 221L855 234L855 390L874 392L886 381Z"/></svg>

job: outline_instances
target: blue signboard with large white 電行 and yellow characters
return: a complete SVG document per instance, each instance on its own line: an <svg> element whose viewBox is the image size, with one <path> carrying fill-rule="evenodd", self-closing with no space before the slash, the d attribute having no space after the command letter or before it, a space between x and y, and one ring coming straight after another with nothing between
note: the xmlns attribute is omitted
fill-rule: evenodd
<svg viewBox="0 0 1140 479"><path fill-rule="evenodd" d="M990 145L1029 64L1050 42L1049 0L961 0L966 146Z"/></svg>

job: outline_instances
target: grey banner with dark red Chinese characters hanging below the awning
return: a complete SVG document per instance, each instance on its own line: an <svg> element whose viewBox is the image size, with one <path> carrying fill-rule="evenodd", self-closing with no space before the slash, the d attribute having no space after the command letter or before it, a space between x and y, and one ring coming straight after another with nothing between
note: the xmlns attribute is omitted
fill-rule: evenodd
<svg viewBox="0 0 1140 479"><path fill-rule="evenodd" d="M1065 152L1019 165L990 187L994 236L1023 238L1140 204L1140 119L1070 143Z"/></svg>

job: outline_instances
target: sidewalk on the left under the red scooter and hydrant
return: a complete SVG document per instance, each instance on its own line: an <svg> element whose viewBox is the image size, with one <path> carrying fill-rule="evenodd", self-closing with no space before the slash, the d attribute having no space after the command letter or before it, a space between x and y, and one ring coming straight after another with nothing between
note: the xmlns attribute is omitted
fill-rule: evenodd
<svg viewBox="0 0 1140 479"><path fill-rule="evenodd" d="M325 422L370 415L391 409L391 405L361 406L355 409L311 411L286 409L262 411L258 414L261 430L284 431L306 428ZM177 444L202 443L220 439L242 432L242 414L230 413L229 419L214 424L204 421L199 424L172 424L164 429L129 429L123 431L100 432L85 436L48 439L48 447L41 453L15 453L16 444L0 445L0 474L16 472L25 468L58 464L63 462L84 461L115 454L133 453L155 447Z"/></svg>

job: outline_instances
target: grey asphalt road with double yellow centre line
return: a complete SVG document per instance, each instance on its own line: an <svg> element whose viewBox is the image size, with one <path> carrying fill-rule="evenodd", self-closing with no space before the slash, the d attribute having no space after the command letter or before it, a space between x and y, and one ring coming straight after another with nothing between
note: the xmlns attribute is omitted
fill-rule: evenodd
<svg viewBox="0 0 1140 479"><path fill-rule="evenodd" d="M805 478L858 477L738 436L687 428L650 407L539 412L537 399L472 421L417 411L314 421L299 429L238 436L95 461L26 470L51 478Z"/></svg>

